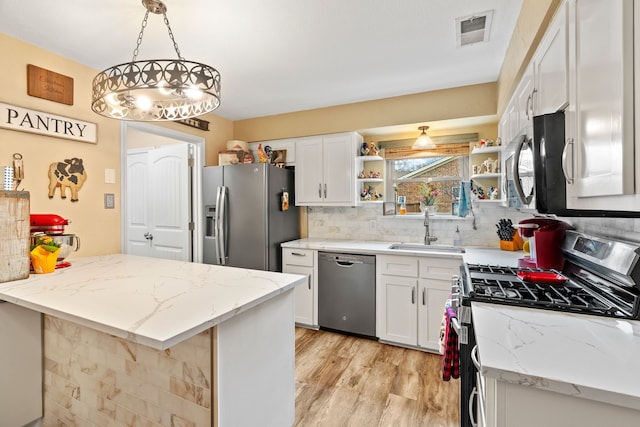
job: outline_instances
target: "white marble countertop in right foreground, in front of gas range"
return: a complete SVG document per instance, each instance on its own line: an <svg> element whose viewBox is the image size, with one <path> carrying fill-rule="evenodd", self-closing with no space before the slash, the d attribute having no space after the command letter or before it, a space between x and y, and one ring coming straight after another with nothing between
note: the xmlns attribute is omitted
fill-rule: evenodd
<svg viewBox="0 0 640 427"><path fill-rule="evenodd" d="M476 302L472 314L485 376L640 410L640 321Z"/></svg>

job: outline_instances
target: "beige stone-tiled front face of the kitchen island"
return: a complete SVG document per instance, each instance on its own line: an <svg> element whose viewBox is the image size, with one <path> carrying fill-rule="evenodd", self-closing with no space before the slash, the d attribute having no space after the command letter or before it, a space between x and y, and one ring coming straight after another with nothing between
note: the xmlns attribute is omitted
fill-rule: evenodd
<svg viewBox="0 0 640 427"><path fill-rule="evenodd" d="M211 330L167 350L44 316L44 425L211 423Z"/></svg>

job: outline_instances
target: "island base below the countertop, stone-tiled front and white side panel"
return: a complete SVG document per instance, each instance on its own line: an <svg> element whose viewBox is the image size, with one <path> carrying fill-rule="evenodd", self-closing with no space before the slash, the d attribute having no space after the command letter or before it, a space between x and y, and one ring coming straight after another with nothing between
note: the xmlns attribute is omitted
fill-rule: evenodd
<svg viewBox="0 0 640 427"><path fill-rule="evenodd" d="M290 426L293 291L166 350L44 316L46 426Z"/></svg>

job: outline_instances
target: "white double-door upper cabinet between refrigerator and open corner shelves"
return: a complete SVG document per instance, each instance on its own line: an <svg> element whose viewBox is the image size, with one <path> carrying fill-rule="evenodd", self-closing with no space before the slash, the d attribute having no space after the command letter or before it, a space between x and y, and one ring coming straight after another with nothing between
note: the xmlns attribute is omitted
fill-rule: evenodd
<svg viewBox="0 0 640 427"><path fill-rule="evenodd" d="M355 132L298 140L296 146L296 204L355 206L354 158L362 136Z"/></svg>

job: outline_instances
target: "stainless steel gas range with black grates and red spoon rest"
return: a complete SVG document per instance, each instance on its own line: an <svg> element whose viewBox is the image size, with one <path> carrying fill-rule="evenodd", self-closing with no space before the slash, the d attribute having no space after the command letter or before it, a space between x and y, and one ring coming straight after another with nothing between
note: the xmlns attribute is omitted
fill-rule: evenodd
<svg viewBox="0 0 640 427"><path fill-rule="evenodd" d="M640 320L640 243L567 231L562 252L562 271L464 264L454 278L461 426L477 425L472 302Z"/></svg>

